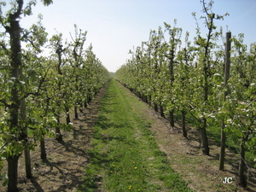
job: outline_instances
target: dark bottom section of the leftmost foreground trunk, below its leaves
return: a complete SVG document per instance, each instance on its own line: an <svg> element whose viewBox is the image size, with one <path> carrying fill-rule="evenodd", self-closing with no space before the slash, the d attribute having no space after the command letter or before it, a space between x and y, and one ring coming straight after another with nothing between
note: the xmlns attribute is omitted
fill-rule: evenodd
<svg viewBox="0 0 256 192"><path fill-rule="evenodd" d="M19 155L12 155L7 158L8 162L8 192L18 192L18 160Z"/></svg>

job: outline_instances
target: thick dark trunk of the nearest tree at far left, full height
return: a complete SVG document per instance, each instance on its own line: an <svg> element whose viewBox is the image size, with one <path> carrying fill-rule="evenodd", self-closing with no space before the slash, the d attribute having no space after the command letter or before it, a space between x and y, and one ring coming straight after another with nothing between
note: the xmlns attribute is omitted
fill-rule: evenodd
<svg viewBox="0 0 256 192"><path fill-rule="evenodd" d="M20 45L20 18L21 10L23 7L23 1L17 1L17 10L15 13L9 13L9 26L5 26L7 32L9 32L9 44L10 44L10 78L15 79L14 86L10 92L9 102L9 131L16 132L19 140L23 139L20 137L20 133L23 135L24 131L21 130L19 124L19 111L20 111L20 76L22 74L22 56L21 56L21 45ZM8 21L8 20L6 20ZM22 94L21 94L22 95ZM18 131L17 131L18 129ZM16 141L15 141L16 142ZM20 143L21 145L21 143ZM8 161L8 191L18 191L18 160L20 155L16 155L17 148L12 150L12 154L7 157Z"/></svg>

